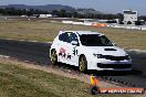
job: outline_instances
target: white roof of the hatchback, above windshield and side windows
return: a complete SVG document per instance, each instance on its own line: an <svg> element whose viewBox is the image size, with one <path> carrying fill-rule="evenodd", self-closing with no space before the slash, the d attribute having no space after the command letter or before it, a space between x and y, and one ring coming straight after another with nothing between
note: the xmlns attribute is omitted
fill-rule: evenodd
<svg viewBox="0 0 146 97"><path fill-rule="evenodd" d="M80 35L82 34L98 34L98 35L104 35L100 32L93 32L93 31L61 31L61 33L65 33L65 32L73 32L73 33L77 33Z"/></svg>

